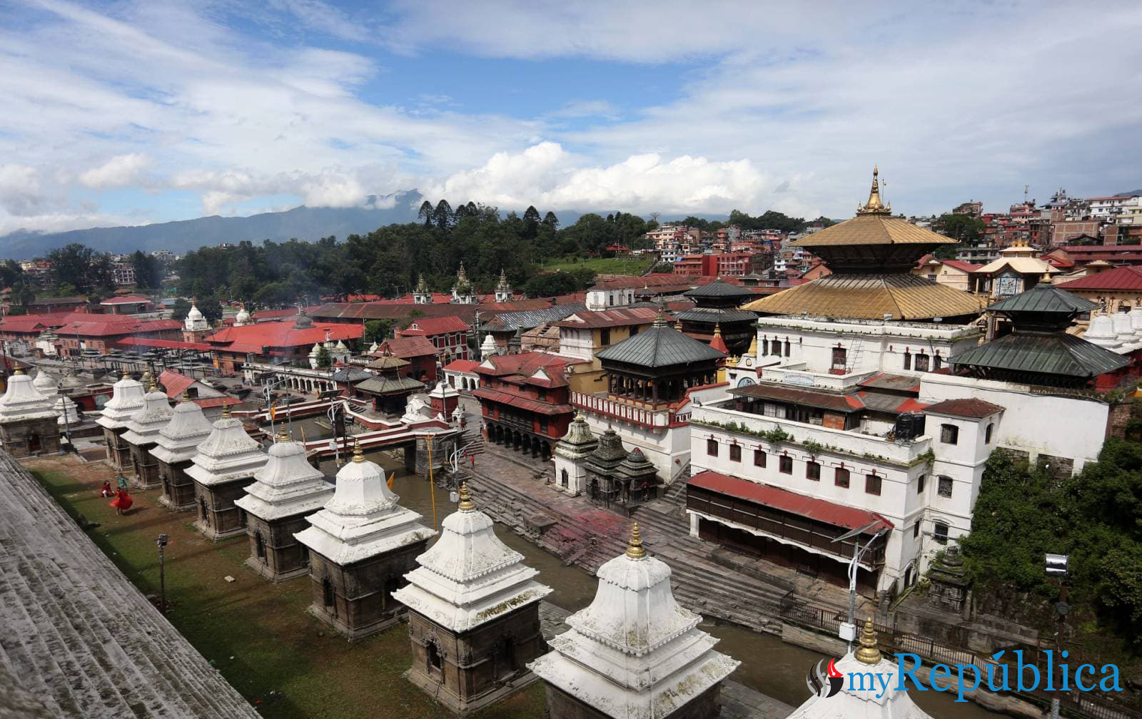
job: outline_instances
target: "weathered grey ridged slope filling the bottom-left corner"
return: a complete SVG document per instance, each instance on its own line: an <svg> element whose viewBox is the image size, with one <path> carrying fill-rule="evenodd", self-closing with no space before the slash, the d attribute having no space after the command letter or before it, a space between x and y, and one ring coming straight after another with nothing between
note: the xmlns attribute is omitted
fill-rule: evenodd
<svg viewBox="0 0 1142 719"><path fill-rule="evenodd" d="M0 696L42 704L16 716L258 716L7 453L0 625Z"/></svg>

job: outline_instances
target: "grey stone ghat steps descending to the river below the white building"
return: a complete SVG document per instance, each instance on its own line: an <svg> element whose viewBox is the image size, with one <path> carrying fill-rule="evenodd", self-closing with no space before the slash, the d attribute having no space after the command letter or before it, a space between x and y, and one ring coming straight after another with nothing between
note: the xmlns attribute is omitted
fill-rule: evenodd
<svg viewBox="0 0 1142 719"><path fill-rule="evenodd" d="M624 531L584 536L582 525L574 515L558 511L554 502L545 503L548 495L562 495L545 487L541 482L537 483L533 492L524 492L481 476L477 468L469 487L477 507L521 533L528 533L525 520L530 516L546 515L555 519L556 525L542 536L532 535L531 539L564 560L573 559L573 564L590 573L626 551L629 539L625 531L626 519L619 518L618 522ZM715 547L690 536L689 523L678 517L679 500L684 503L684 493L675 493L673 502L666 499L650 502L636 514L648 550L670 565L675 598L683 606L706 616L733 621L759 631L773 630L781 597L787 590L711 562L709 554ZM581 539L568 544L557 543L550 539L554 536Z"/></svg>

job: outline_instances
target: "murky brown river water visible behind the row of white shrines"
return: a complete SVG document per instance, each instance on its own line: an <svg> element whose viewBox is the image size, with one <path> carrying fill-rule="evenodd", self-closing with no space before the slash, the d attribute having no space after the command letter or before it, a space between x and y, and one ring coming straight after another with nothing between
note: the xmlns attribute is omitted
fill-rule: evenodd
<svg viewBox="0 0 1142 719"><path fill-rule="evenodd" d="M295 422L296 429L297 422ZM309 426L306 427L306 435L309 439L315 438L315 435L311 434ZM384 467L387 472L395 472L393 490L401 496L401 504L420 512L426 525L433 522L433 493L435 493L437 523L455 511L456 507L449 501L448 492L433 491L426 479L408 472L402 461L383 452L368 453L365 457ZM321 469L325 476L332 476L333 461L322 461ZM547 597L552 604L576 612L594 599L596 580L584 569L577 566L563 566L557 557L536 547L504 525L496 525L496 534L505 544L522 554L529 566L539 569L538 580L554 589ZM741 662L741 667L732 676L734 680L790 706L797 706L809 697L805 687L809 668L821 659L828 659L811 649L786 644L773 635L754 632L734 624L703 622L702 629L721 639L717 646L721 652ZM971 702L956 703L954 695L915 689L911 690L911 695L914 701L935 719L1006 717Z"/></svg>

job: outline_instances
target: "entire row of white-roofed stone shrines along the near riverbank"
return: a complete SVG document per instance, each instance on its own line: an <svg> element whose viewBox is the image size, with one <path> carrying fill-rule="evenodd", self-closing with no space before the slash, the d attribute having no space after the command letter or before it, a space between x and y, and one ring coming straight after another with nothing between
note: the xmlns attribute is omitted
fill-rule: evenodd
<svg viewBox="0 0 1142 719"><path fill-rule="evenodd" d="M53 403L32 378L16 374L0 397L0 423L55 423ZM675 601L670 568L646 554L637 525L626 552L598 568L595 599L548 645L539 604L550 588L496 536L466 485L437 533L400 504L360 447L330 486L303 443L282 434L263 451L228 413L211 423L187 397L171 409L166 393L153 383L144 391L127 375L97 421L115 442L108 459L138 470L147 462L138 450L148 452L161 501L172 510L196 507L203 534L246 533L247 563L267 580L308 575L311 612L338 632L359 639L407 616L409 680L459 714L542 679L552 719L708 719L739 665L714 651L717 640L698 629L701 616ZM837 669L896 671L870 623ZM895 685L880 696L849 687L814 695L791 717L927 717Z"/></svg>

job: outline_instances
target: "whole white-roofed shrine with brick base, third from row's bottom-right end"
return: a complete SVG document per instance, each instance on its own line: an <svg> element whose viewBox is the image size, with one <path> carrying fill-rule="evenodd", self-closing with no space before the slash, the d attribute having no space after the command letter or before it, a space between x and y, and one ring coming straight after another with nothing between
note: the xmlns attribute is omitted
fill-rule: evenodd
<svg viewBox="0 0 1142 719"><path fill-rule="evenodd" d="M534 680L528 663L547 648L539 600L552 590L522 560L461 484L458 511L393 595L409 607L407 677L461 716Z"/></svg>

